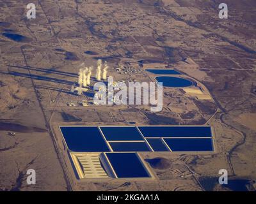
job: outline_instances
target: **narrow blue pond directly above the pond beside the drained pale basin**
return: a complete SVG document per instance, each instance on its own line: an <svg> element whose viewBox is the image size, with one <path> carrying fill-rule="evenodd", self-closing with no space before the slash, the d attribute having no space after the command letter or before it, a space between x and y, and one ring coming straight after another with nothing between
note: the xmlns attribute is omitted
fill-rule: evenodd
<svg viewBox="0 0 256 204"><path fill-rule="evenodd" d="M146 142L109 142L114 152L150 152Z"/></svg>

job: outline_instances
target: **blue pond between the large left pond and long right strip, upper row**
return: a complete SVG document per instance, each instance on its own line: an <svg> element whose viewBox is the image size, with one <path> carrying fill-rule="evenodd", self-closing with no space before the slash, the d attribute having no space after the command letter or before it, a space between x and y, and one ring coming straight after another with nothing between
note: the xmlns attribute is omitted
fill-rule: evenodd
<svg viewBox="0 0 256 204"><path fill-rule="evenodd" d="M143 137L136 127L100 127L108 141L143 141Z"/></svg>

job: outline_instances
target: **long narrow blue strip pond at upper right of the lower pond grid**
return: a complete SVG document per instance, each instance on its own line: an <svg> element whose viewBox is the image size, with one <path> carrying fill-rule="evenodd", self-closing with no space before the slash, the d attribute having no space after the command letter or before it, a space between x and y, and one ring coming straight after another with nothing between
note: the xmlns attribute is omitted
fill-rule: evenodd
<svg viewBox="0 0 256 204"><path fill-rule="evenodd" d="M145 137L211 137L210 126L145 126L138 127Z"/></svg>

